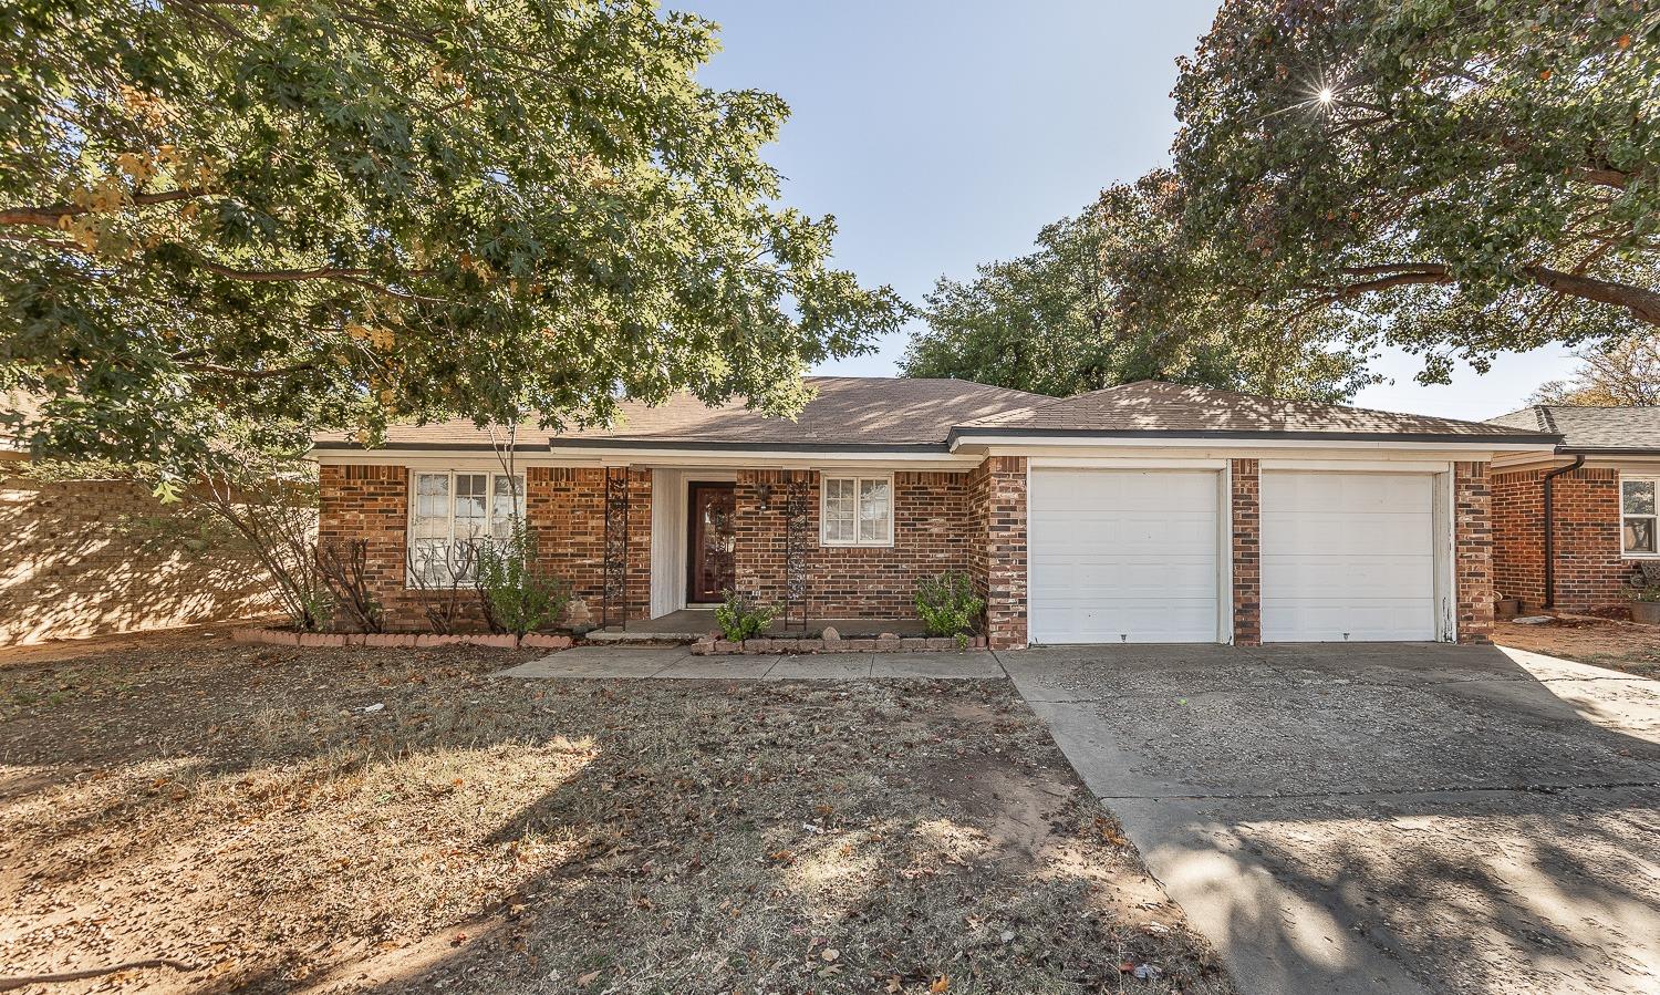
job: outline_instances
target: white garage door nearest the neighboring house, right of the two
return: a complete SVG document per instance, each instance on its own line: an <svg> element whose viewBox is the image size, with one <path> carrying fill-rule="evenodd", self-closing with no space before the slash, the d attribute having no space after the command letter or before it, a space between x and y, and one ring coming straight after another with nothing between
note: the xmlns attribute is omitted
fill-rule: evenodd
<svg viewBox="0 0 1660 995"><path fill-rule="evenodd" d="M1434 477L1262 475L1262 638L1436 638Z"/></svg>

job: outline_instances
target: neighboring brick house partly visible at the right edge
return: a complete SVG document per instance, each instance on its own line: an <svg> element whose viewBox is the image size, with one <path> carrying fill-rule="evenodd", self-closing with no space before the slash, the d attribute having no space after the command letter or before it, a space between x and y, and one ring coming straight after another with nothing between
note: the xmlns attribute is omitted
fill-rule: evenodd
<svg viewBox="0 0 1660 995"><path fill-rule="evenodd" d="M1534 405L1492 424L1560 439L1494 460L1501 596L1585 611L1623 605L1645 563L1660 576L1660 407Z"/></svg>

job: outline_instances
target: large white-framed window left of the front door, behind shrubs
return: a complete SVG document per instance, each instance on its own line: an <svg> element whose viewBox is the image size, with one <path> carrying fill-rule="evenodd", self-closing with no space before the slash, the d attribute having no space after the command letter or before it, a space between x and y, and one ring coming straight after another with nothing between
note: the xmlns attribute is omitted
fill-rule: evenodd
<svg viewBox="0 0 1660 995"><path fill-rule="evenodd" d="M425 583L470 583L470 550L505 540L525 515L525 477L506 473L415 473L410 508L410 575Z"/></svg>

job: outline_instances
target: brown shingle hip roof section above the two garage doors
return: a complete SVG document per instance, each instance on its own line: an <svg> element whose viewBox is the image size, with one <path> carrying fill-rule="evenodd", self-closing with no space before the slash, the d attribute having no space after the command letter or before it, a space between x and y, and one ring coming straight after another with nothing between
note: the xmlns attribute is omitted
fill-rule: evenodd
<svg viewBox="0 0 1660 995"><path fill-rule="evenodd" d="M1157 380L1120 384L1091 394L1049 400L1023 410L979 419L958 429L958 432L971 430L1120 435L1144 432L1174 435L1419 435L1489 440L1542 435L1539 430L1519 432L1511 425L1487 422L1406 415L1341 404L1278 400Z"/></svg>

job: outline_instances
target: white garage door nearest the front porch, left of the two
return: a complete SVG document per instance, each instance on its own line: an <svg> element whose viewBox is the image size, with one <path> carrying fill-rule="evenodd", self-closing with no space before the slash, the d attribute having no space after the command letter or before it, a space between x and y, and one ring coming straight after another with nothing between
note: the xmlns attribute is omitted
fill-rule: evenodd
<svg viewBox="0 0 1660 995"><path fill-rule="evenodd" d="M1213 472L1033 470L1036 643L1215 643Z"/></svg>

